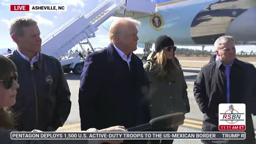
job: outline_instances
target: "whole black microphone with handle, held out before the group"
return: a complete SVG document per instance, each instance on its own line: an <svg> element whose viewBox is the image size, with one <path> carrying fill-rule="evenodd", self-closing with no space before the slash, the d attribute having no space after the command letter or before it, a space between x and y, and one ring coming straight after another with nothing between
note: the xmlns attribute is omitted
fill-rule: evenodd
<svg viewBox="0 0 256 144"><path fill-rule="evenodd" d="M148 129L170 129L174 125L183 124L185 115L183 113L174 113L153 118L149 123L138 125L127 129L129 132L139 132Z"/></svg>

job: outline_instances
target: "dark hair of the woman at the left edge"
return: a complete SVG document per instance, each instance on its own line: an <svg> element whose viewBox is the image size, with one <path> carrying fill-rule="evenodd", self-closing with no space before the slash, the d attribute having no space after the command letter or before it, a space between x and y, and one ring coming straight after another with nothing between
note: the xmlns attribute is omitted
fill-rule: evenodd
<svg viewBox="0 0 256 144"><path fill-rule="evenodd" d="M17 72L15 64L9 58L4 57L4 55L0 55L0 66L0 79ZM0 108L0 127L14 129L14 126L14 114L11 113L11 110Z"/></svg>

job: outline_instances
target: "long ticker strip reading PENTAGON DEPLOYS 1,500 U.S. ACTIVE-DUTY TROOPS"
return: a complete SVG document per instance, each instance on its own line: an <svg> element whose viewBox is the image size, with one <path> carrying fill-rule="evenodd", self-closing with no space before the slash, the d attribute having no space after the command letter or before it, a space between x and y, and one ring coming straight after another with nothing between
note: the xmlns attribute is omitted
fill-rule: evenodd
<svg viewBox="0 0 256 144"><path fill-rule="evenodd" d="M233 139L244 140L245 132L11 132L12 140L149 140Z"/></svg>

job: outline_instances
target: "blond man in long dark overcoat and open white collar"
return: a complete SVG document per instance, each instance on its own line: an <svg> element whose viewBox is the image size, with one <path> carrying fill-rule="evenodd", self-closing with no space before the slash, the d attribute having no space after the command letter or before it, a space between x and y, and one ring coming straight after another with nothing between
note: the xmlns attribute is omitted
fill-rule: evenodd
<svg viewBox="0 0 256 144"><path fill-rule="evenodd" d="M143 95L148 83L140 58L132 53L137 49L136 25L139 22L126 18L114 21L111 44L86 57L79 89L82 130L149 122Z"/></svg>

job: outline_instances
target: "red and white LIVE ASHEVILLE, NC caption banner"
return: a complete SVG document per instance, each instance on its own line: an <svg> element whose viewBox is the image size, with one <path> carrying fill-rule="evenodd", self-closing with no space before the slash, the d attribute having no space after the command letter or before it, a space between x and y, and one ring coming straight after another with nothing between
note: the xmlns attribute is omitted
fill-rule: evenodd
<svg viewBox="0 0 256 144"><path fill-rule="evenodd" d="M54 12L67 11L67 5L10 5L11 11Z"/></svg>

